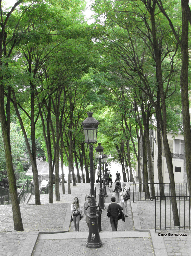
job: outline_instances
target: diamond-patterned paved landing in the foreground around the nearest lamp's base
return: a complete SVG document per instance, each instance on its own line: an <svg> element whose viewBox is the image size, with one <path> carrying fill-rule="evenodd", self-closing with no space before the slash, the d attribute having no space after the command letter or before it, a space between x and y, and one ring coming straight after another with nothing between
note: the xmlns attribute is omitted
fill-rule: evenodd
<svg viewBox="0 0 191 256"><path fill-rule="evenodd" d="M87 248L86 241L87 239L49 239L48 241L39 239L32 256L154 256L152 242L148 238L103 238L101 239L103 246L96 249Z"/></svg>

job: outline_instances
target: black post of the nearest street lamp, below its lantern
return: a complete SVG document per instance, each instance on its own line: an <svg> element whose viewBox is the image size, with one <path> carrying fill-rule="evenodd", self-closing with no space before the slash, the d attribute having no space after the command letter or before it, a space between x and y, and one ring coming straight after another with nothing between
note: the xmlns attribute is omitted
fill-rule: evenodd
<svg viewBox="0 0 191 256"><path fill-rule="evenodd" d="M90 148L90 186L91 186L91 202L90 207L90 224L89 224L89 234L86 242L86 246L89 248L99 248L103 245L98 230L98 214L96 212L96 202L94 198L94 163L93 163L93 145L89 144Z"/></svg>

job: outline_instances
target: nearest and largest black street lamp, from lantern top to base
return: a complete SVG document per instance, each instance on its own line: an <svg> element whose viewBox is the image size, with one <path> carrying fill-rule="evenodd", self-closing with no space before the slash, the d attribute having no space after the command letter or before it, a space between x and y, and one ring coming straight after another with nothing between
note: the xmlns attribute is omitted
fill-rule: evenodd
<svg viewBox="0 0 191 256"><path fill-rule="evenodd" d="M88 117L82 122L82 127L85 135L85 142L90 148L90 187L91 187L91 202L90 207L90 224L89 224L89 234L86 242L86 246L89 248L99 248L103 245L99 236L98 229L98 214L96 212L96 202L94 198L94 162L93 162L93 145L97 141L97 129L99 122L93 118L93 112L87 112Z"/></svg>

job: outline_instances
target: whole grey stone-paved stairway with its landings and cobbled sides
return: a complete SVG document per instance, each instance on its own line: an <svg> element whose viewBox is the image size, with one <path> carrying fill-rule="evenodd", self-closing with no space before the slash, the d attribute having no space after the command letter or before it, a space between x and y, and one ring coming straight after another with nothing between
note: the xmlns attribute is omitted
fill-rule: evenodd
<svg viewBox="0 0 191 256"><path fill-rule="evenodd" d="M128 187L130 185L127 184ZM99 201L99 184L95 184ZM114 188L114 185L113 185ZM61 186L60 186L61 189ZM0 205L0 255L45 256L45 255L148 255L188 256L191 254L191 231L162 231L155 233L155 206L151 201L128 201L128 217L119 220L118 231L112 232L106 209L111 194L105 199L106 209L101 214L103 246L87 248L88 227L85 219L80 222L80 232L73 232L70 223L71 203L75 196L80 202L89 194L90 184L71 185L71 194L60 194L60 201L48 204L48 195L41 195L41 205L34 205L32 196L26 205L21 205L24 232L14 231L11 205ZM108 187L107 187L108 191ZM66 232L70 231L70 232ZM140 232L144 231L144 232ZM177 236L178 233L187 236ZM162 236L162 234L164 234ZM169 234L175 234L170 236Z"/></svg>

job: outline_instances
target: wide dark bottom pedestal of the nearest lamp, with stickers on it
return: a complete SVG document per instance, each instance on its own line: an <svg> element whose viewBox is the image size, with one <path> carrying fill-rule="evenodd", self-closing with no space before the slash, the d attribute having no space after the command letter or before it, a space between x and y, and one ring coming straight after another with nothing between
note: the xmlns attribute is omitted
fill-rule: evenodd
<svg viewBox="0 0 191 256"><path fill-rule="evenodd" d="M97 218L98 214L96 215L96 218L90 218L89 234L85 244L88 248L99 248L103 245L99 236Z"/></svg>

